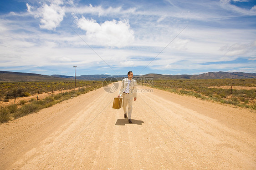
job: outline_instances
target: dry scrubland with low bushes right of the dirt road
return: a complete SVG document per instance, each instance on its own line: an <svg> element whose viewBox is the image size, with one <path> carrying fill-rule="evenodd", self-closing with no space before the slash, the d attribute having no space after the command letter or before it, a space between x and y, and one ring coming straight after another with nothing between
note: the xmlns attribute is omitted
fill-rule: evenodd
<svg viewBox="0 0 256 170"><path fill-rule="evenodd" d="M145 83L147 85L147 83ZM232 86L256 87L256 79L218 80L155 80L154 88L180 95L191 95L202 100L236 105L256 110L256 89L235 90ZM229 89L219 88L230 86Z"/></svg>

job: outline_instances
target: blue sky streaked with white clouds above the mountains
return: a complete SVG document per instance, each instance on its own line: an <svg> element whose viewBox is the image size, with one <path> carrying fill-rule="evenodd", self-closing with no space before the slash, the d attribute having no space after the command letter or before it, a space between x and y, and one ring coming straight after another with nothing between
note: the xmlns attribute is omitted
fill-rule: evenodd
<svg viewBox="0 0 256 170"><path fill-rule="evenodd" d="M0 70L256 73L255 0L6 0Z"/></svg>

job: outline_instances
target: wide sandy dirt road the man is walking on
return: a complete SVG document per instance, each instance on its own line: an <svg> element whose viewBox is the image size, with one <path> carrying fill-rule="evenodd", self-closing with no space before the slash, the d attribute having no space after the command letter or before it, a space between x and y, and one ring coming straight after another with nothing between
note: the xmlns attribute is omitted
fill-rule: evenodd
<svg viewBox="0 0 256 170"><path fill-rule="evenodd" d="M0 169L256 169L255 112L151 90L133 124L100 88L0 125Z"/></svg>

